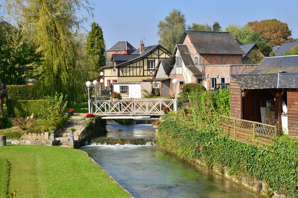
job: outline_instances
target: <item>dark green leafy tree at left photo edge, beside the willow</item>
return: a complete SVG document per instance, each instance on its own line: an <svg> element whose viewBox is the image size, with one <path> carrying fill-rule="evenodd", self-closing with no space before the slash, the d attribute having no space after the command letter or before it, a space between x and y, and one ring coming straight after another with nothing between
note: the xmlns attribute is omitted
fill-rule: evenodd
<svg viewBox="0 0 298 198"><path fill-rule="evenodd" d="M3 24L3 23L1 23ZM3 30L3 29L2 29ZM38 65L42 53L22 30L7 28L0 32L0 113L3 114L3 101L6 96L6 84L15 84L27 70Z"/></svg>

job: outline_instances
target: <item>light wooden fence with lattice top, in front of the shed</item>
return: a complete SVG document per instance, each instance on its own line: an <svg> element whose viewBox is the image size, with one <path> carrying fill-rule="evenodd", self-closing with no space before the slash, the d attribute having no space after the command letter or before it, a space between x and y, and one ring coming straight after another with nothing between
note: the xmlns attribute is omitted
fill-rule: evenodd
<svg viewBox="0 0 298 198"><path fill-rule="evenodd" d="M246 144L263 147L273 143L277 128L269 124L241 120L232 117L220 116L220 126L229 138Z"/></svg>

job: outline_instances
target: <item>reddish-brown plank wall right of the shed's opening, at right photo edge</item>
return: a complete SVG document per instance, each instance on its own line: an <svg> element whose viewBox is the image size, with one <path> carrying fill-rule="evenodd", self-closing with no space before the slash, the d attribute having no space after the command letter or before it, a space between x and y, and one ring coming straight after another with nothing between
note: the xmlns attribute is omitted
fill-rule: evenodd
<svg viewBox="0 0 298 198"><path fill-rule="evenodd" d="M289 136L298 137L298 90L288 90Z"/></svg>

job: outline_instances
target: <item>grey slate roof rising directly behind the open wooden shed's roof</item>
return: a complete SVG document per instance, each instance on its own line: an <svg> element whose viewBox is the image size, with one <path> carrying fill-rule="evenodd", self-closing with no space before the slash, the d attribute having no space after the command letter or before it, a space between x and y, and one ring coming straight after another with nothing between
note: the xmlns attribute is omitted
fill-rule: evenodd
<svg viewBox="0 0 298 198"><path fill-rule="evenodd" d="M298 72L298 55L265 57L248 73Z"/></svg>

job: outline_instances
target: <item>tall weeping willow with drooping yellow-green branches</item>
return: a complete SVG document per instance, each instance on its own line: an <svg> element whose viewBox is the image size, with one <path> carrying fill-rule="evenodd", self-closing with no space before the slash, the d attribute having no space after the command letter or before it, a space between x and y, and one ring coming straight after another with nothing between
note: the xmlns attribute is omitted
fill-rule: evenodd
<svg viewBox="0 0 298 198"><path fill-rule="evenodd" d="M74 33L82 29L86 17L93 16L88 0L6 0L10 16L21 23L44 53L38 72L43 96L55 92L68 96L69 102L80 101L85 92L86 73L81 67L80 45ZM88 78L87 78L88 79Z"/></svg>

